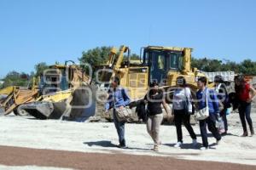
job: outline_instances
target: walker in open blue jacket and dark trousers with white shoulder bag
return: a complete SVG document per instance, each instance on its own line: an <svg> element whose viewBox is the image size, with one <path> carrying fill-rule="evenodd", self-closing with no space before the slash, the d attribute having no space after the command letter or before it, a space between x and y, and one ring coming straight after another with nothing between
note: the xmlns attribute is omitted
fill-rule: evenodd
<svg viewBox="0 0 256 170"><path fill-rule="evenodd" d="M196 93L198 99L198 109L201 110L205 107L209 108L209 116L205 120L199 121L202 144L201 150L207 150L209 148L207 139L207 127L212 133L213 137L216 139L216 144L219 144L221 140L221 135L218 133L216 127L216 115L219 113L218 109L218 97L214 90L207 88L207 78L200 77L197 82L199 88Z"/></svg>

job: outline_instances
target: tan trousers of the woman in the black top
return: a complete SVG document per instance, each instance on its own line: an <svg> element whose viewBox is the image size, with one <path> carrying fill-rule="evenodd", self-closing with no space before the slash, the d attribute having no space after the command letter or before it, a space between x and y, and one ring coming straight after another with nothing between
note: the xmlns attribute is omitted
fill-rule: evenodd
<svg viewBox="0 0 256 170"><path fill-rule="evenodd" d="M159 134L160 134L160 125L162 121L163 121L163 114L158 114L154 116L152 128L153 128L154 144L156 145L160 144Z"/></svg>

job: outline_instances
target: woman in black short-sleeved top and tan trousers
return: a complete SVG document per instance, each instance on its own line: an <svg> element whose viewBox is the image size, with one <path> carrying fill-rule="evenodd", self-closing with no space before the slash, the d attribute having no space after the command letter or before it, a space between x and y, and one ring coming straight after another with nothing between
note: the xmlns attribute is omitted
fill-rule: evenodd
<svg viewBox="0 0 256 170"><path fill-rule="evenodd" d="M144 98L144 102L148 103L148 121L147 130L148 134L154 141L154 151L159 151L160 144L160 124L163 121L163 113L161 105L166 110L166 113L170 116L171 113L166 105L166 99L159 90L159 86L156 82L152 82L149 85L148 94Z"/></svg>

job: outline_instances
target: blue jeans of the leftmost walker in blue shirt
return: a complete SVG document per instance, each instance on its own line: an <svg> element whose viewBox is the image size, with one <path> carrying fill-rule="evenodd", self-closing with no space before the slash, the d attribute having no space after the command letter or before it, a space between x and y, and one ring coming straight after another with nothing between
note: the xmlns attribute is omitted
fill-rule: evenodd
<svg viewBox="0 0 256 170"><path fill-rule="evenodd" d="M125 122L119 122L119 120L116 117L114 109L113 109L113 123L119 135L119 144L126 145L125 144Z"/></svg>

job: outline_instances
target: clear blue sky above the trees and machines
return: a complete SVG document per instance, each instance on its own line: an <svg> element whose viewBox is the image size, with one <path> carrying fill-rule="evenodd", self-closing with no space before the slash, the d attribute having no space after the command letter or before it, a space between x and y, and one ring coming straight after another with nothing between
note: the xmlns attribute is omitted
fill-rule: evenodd
<svg viewBox="0 0 256 170"><path fill-rule="evenodd" d="M121 44L137 54L150 44L255 60L256 1L0 0L0 77Z"/></svg>

